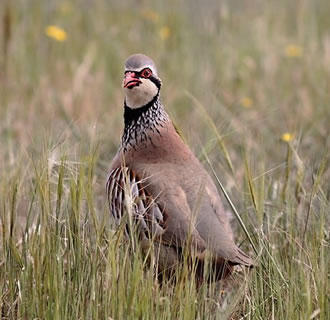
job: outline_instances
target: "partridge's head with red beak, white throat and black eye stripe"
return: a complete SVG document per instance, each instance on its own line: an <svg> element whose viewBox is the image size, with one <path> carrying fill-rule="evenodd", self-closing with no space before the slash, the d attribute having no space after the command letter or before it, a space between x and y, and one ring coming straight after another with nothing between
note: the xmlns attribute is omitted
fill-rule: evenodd
<svg viewBox="0 0 330 320"><path fill-rule="evenodd" d="M150 103L158 94L161 80L151 58L144 54L133 54L125 63L123 90L126 105L131 109Z"/></svg>

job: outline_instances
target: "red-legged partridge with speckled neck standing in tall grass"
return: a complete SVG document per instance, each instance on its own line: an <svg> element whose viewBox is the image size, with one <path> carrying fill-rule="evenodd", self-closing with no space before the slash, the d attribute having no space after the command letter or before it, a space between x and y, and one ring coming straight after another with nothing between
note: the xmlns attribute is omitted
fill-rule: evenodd
<svg viewBox="0 0 330 320"><path fill-rule="evenodd" d="M142 248L153 244L159 274L173 270L188 252L203 277L207 258L217 279L235 265L254 261L234 241L217 188L183 141L160 98L162 81L154 61L133 54L125 63L124 130L108 179L111 215Z"/></svg>

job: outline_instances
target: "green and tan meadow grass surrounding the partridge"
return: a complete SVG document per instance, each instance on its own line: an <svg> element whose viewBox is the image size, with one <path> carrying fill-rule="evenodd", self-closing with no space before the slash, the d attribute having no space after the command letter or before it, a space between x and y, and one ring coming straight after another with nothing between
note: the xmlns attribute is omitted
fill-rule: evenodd
<svg viewBox="0 0 330 320"><path fill-rule="evenodd" d="M329 11L326 0L2 1L1 318L329 319ZM105 180L135 52L156 61L167 110L256 246L258 267L229 286L196 290L186 264L160 285L112 231Z"/></svg>

